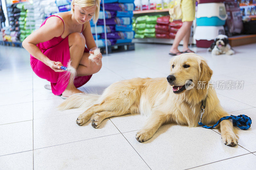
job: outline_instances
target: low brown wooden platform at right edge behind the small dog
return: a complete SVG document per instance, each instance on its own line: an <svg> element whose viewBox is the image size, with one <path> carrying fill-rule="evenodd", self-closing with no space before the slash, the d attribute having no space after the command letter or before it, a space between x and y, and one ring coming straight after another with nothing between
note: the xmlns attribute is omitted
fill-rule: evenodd
<svg viewBox="0 0 256 170"><path fill-rule="evenodd" d="M256 34L231 36L228 41L231 47L251 44L256 42Z"/></svg>

